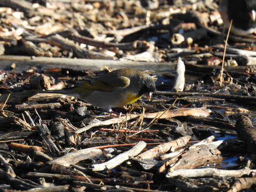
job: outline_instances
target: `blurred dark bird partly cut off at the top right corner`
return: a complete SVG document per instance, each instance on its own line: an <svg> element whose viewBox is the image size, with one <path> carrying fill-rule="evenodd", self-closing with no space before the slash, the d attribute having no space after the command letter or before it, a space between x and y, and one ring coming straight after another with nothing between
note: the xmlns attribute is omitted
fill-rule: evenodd
<svg viewBox="0 0 256 192"><path fill-rule="evenodd" d="M233 20L231 33L234 35L245 36L256 30L255 0L222 0L219 11L226 28Z"/></svg>

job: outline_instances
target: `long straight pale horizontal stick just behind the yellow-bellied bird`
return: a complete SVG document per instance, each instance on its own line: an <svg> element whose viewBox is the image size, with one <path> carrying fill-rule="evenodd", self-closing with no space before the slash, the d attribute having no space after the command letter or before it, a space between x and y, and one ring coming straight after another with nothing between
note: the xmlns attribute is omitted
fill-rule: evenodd
<svg viewBox="0 0 256 192"><path fill-rule="evenodd" d="M174 63L164 62L138 62L138 61L115 61L104 59L70 59L70 58L47 58L47 57L28 57L1 55L0 68L10 67L12 63L16 63L15 71L24 71L30 67L41 66L47 68L70 68L74 70L93 69L99 70L103 67L108 68L134 68L137 70L172 70Z"/></svg>

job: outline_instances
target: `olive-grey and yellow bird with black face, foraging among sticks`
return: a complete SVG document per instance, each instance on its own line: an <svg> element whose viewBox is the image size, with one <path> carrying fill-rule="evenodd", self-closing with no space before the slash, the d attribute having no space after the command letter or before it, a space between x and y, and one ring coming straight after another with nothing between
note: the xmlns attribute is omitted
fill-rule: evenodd
<svg viewBox="0 0 256 192"><path fill-rule="evenodd" d="M153 77L139 70L124 68L79 80L71 88L43 91L42 93L72 95L95 107L111 112L112 108L131 104L143 95L146 95L150 101L155 90Z"/></svg>

